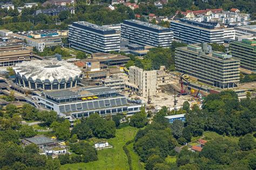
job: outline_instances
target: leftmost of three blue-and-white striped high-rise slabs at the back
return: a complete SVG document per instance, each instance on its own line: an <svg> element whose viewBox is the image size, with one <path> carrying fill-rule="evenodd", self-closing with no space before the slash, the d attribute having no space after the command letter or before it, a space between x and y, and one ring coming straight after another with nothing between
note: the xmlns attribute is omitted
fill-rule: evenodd
<svg viewBox="0 0 256 170"><path fill-rule="evenodd" d="M120 33L88 22L74 22L69 25L69 42L72 48L89 53L119 51Z"/></svg>

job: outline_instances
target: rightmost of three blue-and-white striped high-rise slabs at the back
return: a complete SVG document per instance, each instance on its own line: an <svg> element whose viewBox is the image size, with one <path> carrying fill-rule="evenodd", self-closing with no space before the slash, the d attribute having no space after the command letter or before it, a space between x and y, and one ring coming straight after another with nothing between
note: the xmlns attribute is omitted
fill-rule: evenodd
<svg viewBox="0 0 256 170"><path fill-rule="evenodd" d="M170 29L173 31L174 39L184 43L224 43L224 30L215 28L211 24L180 19L179 21L171 21Z"/></svg>

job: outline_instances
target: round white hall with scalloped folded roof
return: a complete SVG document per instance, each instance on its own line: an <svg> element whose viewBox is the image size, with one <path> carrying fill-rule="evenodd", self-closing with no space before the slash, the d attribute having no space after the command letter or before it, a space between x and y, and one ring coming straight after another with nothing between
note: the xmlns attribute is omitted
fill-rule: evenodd
<svg viewBox="0 0 256 170"><path fill-rule="evenodd" d="M31 60L14 66L16 83L29 89L58 90L76 87L82 71L72 63Z"/></svg>

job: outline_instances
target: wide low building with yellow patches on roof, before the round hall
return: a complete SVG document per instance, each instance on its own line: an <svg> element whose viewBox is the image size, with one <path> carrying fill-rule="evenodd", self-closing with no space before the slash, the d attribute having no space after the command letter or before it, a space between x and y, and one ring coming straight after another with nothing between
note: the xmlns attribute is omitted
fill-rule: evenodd
<svg viewBox="0 0 256 170"><path fill-rule="evenodd" d="M132 115L142 107L138 101L127 99L116 90L104 86L80 87L75 89L44 91L37 96L38 103L60 116L75 118L89 117L99 113L101 116L126 112Z"/></svg>

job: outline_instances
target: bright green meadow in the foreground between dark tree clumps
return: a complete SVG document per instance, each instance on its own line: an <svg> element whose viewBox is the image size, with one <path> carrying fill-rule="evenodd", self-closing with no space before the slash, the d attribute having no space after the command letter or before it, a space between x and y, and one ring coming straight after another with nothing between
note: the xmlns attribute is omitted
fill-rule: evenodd
<svg viewBox="0 0 256 170"><path fill-rule="evenodd" d="M134 138L137 131L137 128L130 126L118 129L115 138L107 139L107 142L109 142L113 148L98 151L97 161L65 164L62 165L60 169L129 169L127 157L122 147L127 141ZM134 155L132 155L132 158L135 158Z"/></svg>

